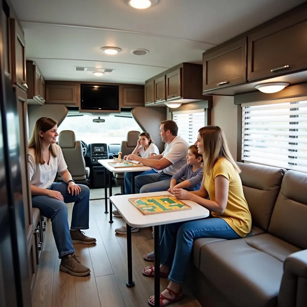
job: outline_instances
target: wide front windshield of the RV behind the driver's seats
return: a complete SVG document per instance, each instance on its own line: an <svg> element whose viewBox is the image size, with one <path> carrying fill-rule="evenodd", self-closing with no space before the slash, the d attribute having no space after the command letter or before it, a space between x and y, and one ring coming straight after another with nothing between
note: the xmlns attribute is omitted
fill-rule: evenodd
<svg viewBox="0 0 307 307"><path fill-rule="evenodd" d="M90 115L67 116L58 127L57 132L72 130L76 140L91 143L120 144L126 140L128 131L142 132L136 121L130 117L101 116L105 122L93 122L97 117Z"/></svg>

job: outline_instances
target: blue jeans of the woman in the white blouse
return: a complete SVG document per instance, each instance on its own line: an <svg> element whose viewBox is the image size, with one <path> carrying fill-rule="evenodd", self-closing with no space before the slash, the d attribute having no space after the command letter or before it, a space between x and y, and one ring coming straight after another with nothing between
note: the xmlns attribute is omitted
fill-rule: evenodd
<svg viewBox="0 0 307 307"><path fill-rule="evenodd" d="M67 183L55 182L48 189L59 191L64 201L55 198L37 195L32 196L32 207L38 208L41 215L51 219L52 233L59 252L59 258L75 252L72 246L68 225L68 210L65 203L75 203L72 209L71 229L88 229L90 189L86 185L79 185L81 192L72 196L68 193Z"/></svg>

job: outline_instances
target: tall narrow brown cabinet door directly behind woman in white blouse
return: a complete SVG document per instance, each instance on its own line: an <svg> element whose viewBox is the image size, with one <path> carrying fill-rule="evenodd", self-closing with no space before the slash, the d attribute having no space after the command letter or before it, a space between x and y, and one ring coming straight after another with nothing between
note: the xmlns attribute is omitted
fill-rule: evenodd
<svg viewBox="0 0 307 307"><path fill-rule="evenodd" d="M16 88L17 111L20 129L20 167L22 197L25 211L25 231L27 237L32 235L32 197L30 191L29 166L28 166L28 122L27 122L27 93L18 87Z"/></svg>

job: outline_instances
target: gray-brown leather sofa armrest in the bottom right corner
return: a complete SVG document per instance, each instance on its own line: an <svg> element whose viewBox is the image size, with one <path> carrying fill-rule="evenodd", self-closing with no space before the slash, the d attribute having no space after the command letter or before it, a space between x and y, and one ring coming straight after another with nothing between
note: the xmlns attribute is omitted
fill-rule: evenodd
<svg viewBox="0 0 307 307"><path fill-rule="evenodd" d="M279 307L307 306L307 250L291 254L284 262L278 294Z"/></svg>

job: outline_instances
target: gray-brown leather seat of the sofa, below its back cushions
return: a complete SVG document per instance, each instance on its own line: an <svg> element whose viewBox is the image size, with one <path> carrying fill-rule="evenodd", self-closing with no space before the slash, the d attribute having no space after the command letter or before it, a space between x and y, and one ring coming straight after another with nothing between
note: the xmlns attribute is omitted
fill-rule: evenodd
<svg viewBox="0 0 307 307"><path fill-rule="evenodd" d="M237 307L277 306L283 262L298 248L270 234L205 244L200 271Z"/></svg>

